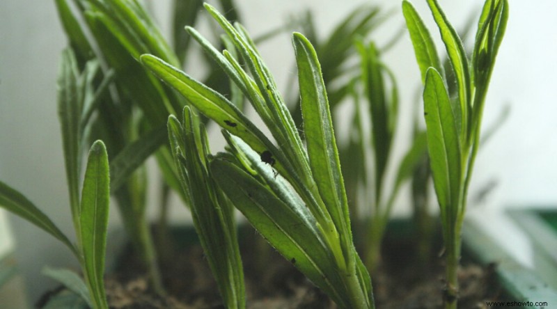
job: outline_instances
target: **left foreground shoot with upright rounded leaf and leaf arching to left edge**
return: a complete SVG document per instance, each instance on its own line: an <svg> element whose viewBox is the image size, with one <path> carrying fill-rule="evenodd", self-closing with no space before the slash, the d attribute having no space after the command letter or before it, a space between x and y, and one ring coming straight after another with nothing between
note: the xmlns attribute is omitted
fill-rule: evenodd
<svg viewBox="0 0 557 309"><path fill-rule="evenodd" d="M0 207L42 228L74 253L84 271L87 286L87 291L81 290L80 293L95 309L108 309L103 276L109 214L109 179L107 150L102 141L97 141L89 152L79 212L76 214L77 219L74 218L74 222L77 222L74 226L77 246L71 244L68 237L22 193L0 182ZM49 273L49 276L55 276L58 280L70 278L68 274L59 271L57 274L52 274L52 271ZM71 277L71 280L80 279Z"/></svg>

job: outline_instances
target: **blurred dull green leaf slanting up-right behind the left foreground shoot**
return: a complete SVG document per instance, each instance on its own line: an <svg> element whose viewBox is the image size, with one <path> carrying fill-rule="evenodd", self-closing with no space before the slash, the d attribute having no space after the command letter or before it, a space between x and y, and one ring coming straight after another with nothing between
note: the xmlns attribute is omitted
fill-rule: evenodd
<svg viewBox="0 0 557 309"><path fill-rule="evenodd" d="M110 162L110 191L118 191L136 168L166 143L166 138L166 126L158 127L120 151Z"/></svg>

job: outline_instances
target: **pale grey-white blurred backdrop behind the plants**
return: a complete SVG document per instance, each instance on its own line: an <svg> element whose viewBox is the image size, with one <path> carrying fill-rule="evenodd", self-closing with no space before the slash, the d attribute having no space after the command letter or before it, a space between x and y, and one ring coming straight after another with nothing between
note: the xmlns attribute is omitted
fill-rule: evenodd
<svg viewBox="0 0 557 309"><path fill-rule="evenodd" d="M163 32L170 29L171 0L145 1L155 14ZM317 35L328 35L336 23L361 4L361 0L236 0L240 17L254 35L266 33L288 22L304 10L312 10ZM372 34L383 45L404 26L401 1L375 1L384 11L393 10L389 21ZM414 6L428 24L434 38L441 42L425 0ZM471 15L477 16L483 1L439 0L446 15L461 29ZM557 100L551 95L557 86L557 3L540 0L510 1L510 19L487 95L483 127L499 121L501 111L510 114L485 147L480 149L471 184L471 196L490 187L479 203L470 205L470 216L492 221L508 207L557 205ZM474 17L473 30L476 31ZM207 26L207 25L203 25ZM203 33L203 26L201 32ZM65 47L65 35L58 22L54 1L2 0L0 3L0 180L22 191L61 229L72 235L56 113L56 74L59 54ZM274 72L279 88L289 87L294 70L290 34L281 33L264 42L260 51ZM418 67L407 32L384 55L400 88L400 129L395 139L395 160L406 151L412 111L420 87ZM190 62L191 63L191 62ZM194 64L187 72L196 76ZM350 111L346 111L350 113ZM342 115L342 113L341 113ZM341 116L342 117L342 116ZM348 119L348 118L347 118ZM342 122L342 121L340 121ZM339 128L342 131L342 127ZM218 136L218 130L214 130ZM342 132L341 132L342 133ZM218 138L213 150L219 150ZM342 138L340 138L342 140ZM395 215L409 212L405 194L395 205ZM173 219L187 219L187 211L174 198ZM111 225L118 224L118 214L111 213ZM76 267L69 252L54 239L21 219L0 210L0 250L17 248L16 258L28 278L31 299L36 300L42 285L52 284L40 276L40 269L50 266ZM0 251L0 258L3 254ZM33 277L30 280L31 274ZM19 291L19 287L14 287ZM0 290L0 300L15 294ZM20 308L2 305L0 308Z"/></svg>

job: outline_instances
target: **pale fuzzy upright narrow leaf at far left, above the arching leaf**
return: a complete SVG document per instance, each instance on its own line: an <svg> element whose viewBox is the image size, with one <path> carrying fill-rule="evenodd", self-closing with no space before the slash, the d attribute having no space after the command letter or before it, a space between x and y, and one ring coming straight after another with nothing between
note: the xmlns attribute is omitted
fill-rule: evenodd
<svg viewBox="0 0 557 309"><path fill-rule="evenodd" d="M65 173L73 218L79 214L79 173L81 172L81 114L83 93L77 61L72 49L64 49L58 72L58 119L62 132Z"/></svg>

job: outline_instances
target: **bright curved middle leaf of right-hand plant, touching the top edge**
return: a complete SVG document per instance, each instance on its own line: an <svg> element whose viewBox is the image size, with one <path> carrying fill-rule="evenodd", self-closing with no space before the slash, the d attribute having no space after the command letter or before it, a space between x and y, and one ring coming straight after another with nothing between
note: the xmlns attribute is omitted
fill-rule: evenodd
<svg viewBox="0 0 557 309"><path fill-rule="evenodd" d="M457 79L458 99L460 102L460 115L462 119L456 119L456 121L459 126L458 129L461 142L464 143L464 137L469 134L468 114L471 109L471 97L469 97L471 85L468 59L466 58L462 40L460 40L457 31L448 22L437 0L427 0L427 4L430 6L432 15L439 27L439 33L441 33L441 39L445 44L448 58L450 59L450 65Z"/></svg>

